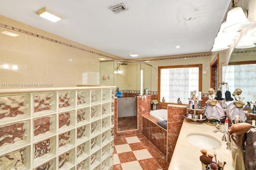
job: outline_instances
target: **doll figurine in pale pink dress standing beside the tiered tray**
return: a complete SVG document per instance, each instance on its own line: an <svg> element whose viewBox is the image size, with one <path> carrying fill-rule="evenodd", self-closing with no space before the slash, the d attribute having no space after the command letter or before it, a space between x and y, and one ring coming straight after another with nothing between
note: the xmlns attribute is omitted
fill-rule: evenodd
<svg viewBox="0 0 256 170"><path fill-rule="evenodd" d="M222 106L220 106L218 101L215 99L216 97L215 90L213 88L209 88L208 92L210 95L209 95L209 99L206 101L205 115L210 122L210 119L220 119L221 117L224 117L225 112L222 109Z"/></svg>

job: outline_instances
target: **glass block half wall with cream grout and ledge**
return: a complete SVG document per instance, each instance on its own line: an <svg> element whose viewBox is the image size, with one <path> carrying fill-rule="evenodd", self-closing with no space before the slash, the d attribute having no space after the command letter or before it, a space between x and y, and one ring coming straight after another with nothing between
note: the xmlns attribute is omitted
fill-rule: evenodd
<svg viewBox="0 0 256 170"><path fill-rule="evenodd" d="M114 86L0 91L0 169L113 169L114 93Z"/></svg>

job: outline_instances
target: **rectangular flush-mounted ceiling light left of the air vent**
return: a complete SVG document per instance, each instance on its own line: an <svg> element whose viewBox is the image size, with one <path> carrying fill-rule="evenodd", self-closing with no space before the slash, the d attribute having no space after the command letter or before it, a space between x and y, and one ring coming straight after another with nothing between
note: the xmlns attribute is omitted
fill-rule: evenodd
<svg viewBox="0 0 256 170"><path fill-rule="evenodd" d="M64 18L61 14L58 14L58 12L55 12L49 8L42 8L36 12L40 17L52 21L52 22L57 22L60 21L61 19Z"/></svg>

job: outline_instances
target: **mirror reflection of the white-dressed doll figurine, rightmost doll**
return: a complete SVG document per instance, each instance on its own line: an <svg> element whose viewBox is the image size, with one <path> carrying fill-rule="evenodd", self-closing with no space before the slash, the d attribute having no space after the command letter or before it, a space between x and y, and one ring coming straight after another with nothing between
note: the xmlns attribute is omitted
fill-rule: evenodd
<svg viewBox="0 0 256 170"><path fill-rule="evenodd" d="M232 96L235 97L235 101L233 102L233 104L229 104L228 105L228 116L230 117L231 120L235 119L236 115L240 116L240 119L245 122L247 117L244 114L244 110L243 110L243 105L244 102L242 102L244 100L244 98L241 98L239 95L242 93L242 90L240 88L237 88Z"/></svg>

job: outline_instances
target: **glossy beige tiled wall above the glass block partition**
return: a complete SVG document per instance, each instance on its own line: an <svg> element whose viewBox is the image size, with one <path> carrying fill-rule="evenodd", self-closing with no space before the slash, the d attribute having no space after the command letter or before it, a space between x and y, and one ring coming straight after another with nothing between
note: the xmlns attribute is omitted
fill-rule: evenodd
<svg viewBox="0 0 256 170"><path fill-rule="evenodd" d="M121 59L4 16L0 16L0 23L107 56L102 57L26 33L0 27L0 88L24 88L26 84L34 83L49 83L52 84L52 87L70 87L77 84L99 85L99 58L108 60L113 58ZM18 33L19 36L4 35L2 31ZM7 64L9 69L6 69ZM13 65L18 66L18 70L12 69ZM19 86L13 83L17 83ZM36 88L35 86L32 87Z"/></svg>

